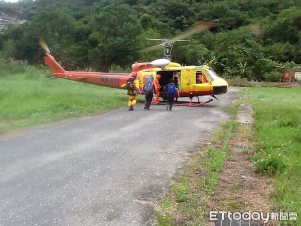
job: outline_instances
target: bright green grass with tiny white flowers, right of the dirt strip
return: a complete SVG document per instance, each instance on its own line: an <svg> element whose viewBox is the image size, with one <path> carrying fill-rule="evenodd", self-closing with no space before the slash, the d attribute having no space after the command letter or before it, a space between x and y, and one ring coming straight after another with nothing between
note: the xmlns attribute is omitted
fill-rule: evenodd
<svg viewBox="0 0 301 226"><path fill-rule="evenodd" d="M249 88L256 122L255 166L274 179L270 196L277 211L297 212L301 225L301 88ZM297 223L297 224L295 224Z"/></svg>

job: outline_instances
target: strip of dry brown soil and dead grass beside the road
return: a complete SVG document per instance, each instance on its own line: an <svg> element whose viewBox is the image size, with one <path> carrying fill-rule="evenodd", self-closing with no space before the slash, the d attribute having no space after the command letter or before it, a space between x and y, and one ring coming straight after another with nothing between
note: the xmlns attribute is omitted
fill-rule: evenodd
<svg viewBox="0 0 301 226"><path fill-rule="evenodd" d="M250 160L252 150L241 148L252 147L252 134L251 125L241 125L230 139L223 170L209 200L210 211L272 212L268 200L272 181L256 172L254 163ZM234 145L239 148L234 148ZM206 218L205 225L214 225L214 222L209 221L209 216ZM274 222L269 220L264 225L274 225Z"/></svg>

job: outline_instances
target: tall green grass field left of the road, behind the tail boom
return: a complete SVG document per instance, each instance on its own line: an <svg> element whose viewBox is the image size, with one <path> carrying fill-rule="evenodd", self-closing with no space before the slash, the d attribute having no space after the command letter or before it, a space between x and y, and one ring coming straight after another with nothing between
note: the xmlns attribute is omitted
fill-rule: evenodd
<svg viewBox="0 0 301 226"><path fill-rule="evenodd" d="M15 65L16 67L10 66ZM127 106L121 89L64 79L20 64L0 68L0 133Z"/></svg>

